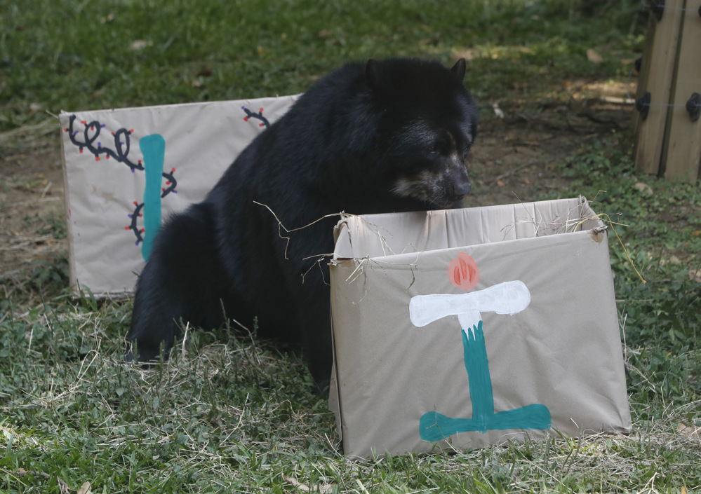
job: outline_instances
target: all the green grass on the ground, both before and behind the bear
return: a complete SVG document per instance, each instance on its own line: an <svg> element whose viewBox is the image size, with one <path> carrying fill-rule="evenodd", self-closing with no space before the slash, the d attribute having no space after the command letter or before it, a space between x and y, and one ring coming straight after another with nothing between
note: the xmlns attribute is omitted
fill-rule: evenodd
<svg viewBox="0 0 701 494"><path fill-rule="evenodd" d="M0 131L12 137L0 151L30 149L23 129L44 137L44 110L291 94L368 56L469 55L477 100L566 97L568 78L625 78L643 41L637 11L606 0L4 1ZM589 63L587 48L604 61ZM69 298L59 257L0 291L0 490L691 492L701 485L701 193L636 176L630 142L614 134L575 149L559 165L568 188L542 197L596 198L626 247L610 244L630 436L346 458L298 355L192 332L166 364L125 366L131 305ZM42 228L65 235L60 219Z"/></svg>

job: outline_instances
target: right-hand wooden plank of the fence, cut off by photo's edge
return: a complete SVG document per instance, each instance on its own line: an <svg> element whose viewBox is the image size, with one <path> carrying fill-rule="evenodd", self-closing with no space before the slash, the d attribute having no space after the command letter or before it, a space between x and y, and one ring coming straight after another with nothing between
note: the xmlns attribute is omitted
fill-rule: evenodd
<svg viewBox="0 0 701 494"><path fill-rule="evenodd" d="M692 122L686 102L692 93L701 94L701 0L686 0L681 28L679 64L672 102L672 121L665 160L665 178L672 181L695 182L701 164L701 119ZM688 9L693 9L690 11ZM679 105L679 106L677 106Z"/></svg>

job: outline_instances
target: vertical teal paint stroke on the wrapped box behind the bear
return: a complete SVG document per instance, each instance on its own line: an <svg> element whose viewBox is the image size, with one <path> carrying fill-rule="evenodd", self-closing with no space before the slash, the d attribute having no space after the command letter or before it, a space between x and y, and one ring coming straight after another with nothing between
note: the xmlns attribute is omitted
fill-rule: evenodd
<svg viewBox="0 0 701 494"><path fill-rule="evenodd" d="M154 238L161 228L161 179L163 162L166 160L166 139L160 134L147 135L139 139L139 148L144 156L146 187L144 189L144 241L141 256L149 260Z"/></svg>

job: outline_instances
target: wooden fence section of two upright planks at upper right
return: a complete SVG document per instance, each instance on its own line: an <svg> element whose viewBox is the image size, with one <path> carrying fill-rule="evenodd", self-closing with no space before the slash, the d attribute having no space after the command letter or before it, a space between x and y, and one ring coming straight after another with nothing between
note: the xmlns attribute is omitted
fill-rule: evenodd
<svg viewBox="0 0 701 494"><path fill-rule="evenodd" d="M636 94L639 172L695 182L701 167L701 0L653 0Z"/></svg>

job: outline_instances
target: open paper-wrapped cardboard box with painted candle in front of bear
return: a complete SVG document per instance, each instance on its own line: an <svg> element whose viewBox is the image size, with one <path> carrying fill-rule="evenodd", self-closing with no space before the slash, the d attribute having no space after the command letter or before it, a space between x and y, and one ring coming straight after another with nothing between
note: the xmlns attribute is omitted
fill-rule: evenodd
<svg viewBox="0 0 701 494"><path fill-rule="evenodd" d="M335 237L346 454L630 432L608 234L585 198L347 216Z"/></svg>

